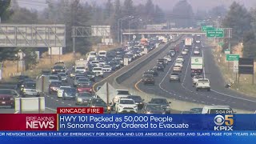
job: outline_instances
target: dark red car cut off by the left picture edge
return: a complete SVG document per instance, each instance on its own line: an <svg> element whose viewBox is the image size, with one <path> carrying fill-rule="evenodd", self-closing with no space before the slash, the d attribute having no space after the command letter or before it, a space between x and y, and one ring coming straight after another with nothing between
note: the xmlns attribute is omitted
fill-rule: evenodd
<svg viewBox="0 0 256 144"><path fill-rule="evenodd" d="M15 98L18 98L19 94L16 90L0 89L0 106L10 106L14 108Z"/></svg>

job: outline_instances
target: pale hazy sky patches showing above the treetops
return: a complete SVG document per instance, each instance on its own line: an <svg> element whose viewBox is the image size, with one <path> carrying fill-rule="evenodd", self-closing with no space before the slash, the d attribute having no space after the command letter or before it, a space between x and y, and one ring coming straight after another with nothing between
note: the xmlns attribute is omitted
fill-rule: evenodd
<svg viewBox="0 0 256 144"><path fill-rule="evenodd" d="M43 10L46 7L46 0L17 0L20 6L25 6L29 9ZM54 1L54 0L52 0ZM71 1L71 0L70 0ZM106 3L107 0L80 0L81 2L96 2L99 5ZM123 1L123 0L121 0ZM179 0L152 0L154 4L162 7L163 10L172 10L175 3ZM239 2L247 8L256 7L256 0L187 0L194 11L196 10L209 10L214 6L230 6L232 2ZM112 0L114 2L114 0ZM146 0L134 0L134 4L145 3Z"/></svg>

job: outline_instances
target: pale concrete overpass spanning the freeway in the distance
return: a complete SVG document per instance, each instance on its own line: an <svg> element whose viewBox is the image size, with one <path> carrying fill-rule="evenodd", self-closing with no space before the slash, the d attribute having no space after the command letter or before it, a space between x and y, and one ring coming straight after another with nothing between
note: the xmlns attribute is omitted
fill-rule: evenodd
<svg viewBox="0 0 256 144"><path fill-rule="evenodd" d="M130 34L206 34L206 32L197 29L122 30L122 35Z"/></svg>

